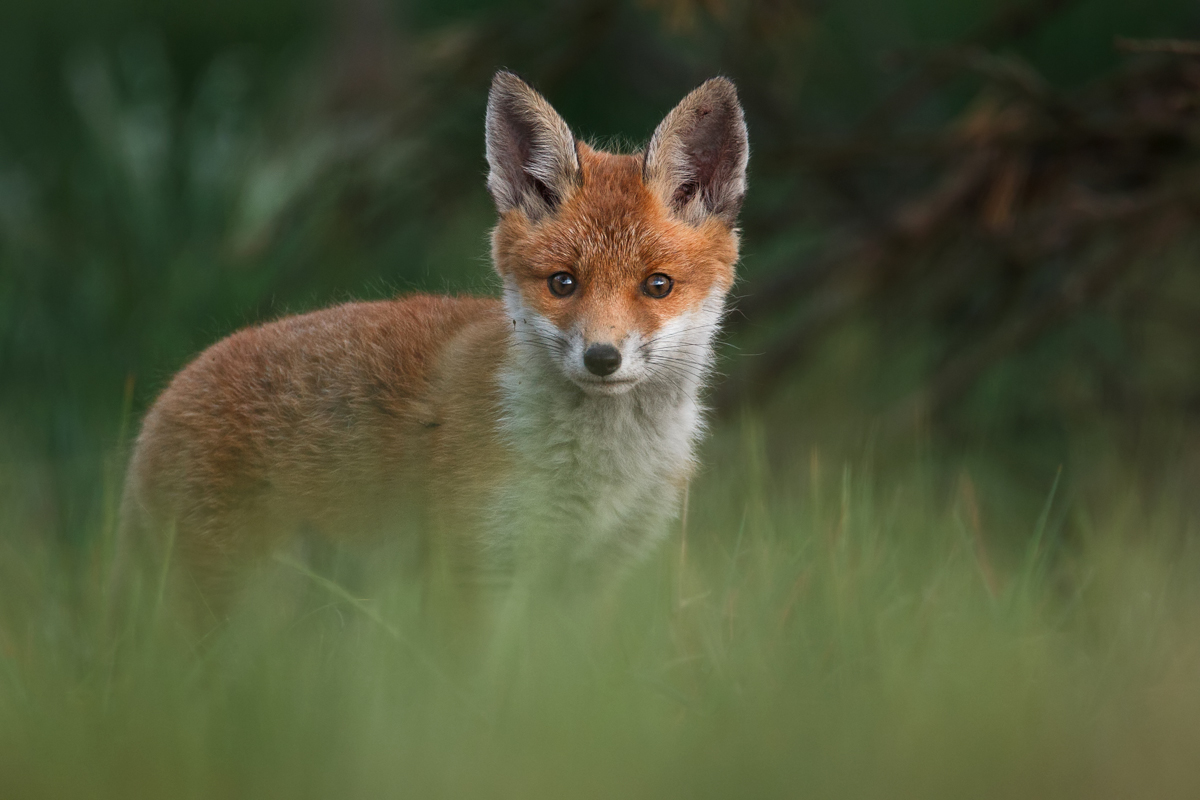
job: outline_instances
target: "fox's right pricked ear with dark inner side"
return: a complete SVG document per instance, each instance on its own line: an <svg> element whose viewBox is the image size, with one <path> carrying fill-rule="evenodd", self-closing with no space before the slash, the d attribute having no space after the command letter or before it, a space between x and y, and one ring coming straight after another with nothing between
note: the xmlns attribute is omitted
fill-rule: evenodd
<svg viewBox="0 0 1200 800"><path fill-rule="evenodd" d="M646 149L642 178L691 224L715 216L732 227L746 192L750 145L738 90L713 78L674 107Z"/></svg>

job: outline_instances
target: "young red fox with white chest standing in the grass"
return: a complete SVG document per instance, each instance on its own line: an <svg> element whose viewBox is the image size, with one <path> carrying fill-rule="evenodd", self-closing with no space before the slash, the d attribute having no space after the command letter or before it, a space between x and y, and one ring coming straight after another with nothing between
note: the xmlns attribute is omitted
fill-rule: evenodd
<svg viewBox="0 0 1200 800"><path fill-rule="evenodd" d="M299 530L407 533L475 571L648 552L692 471L748 154L724 78L612 155L498 73L503 300L347 303L217 342L145 417L124 535L169 540L208 595Z"/></svg>

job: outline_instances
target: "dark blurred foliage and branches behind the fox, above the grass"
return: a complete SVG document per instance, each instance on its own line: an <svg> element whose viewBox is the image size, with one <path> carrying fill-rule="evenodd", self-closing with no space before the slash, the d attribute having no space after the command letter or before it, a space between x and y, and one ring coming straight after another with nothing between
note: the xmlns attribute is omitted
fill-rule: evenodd
<svg viewBox="0 0 1200 800"><path fill-rule="evenodd" d="M767 409L772 458L919 439L1018 495L1062 465L1076 492L1174 492L1200 58L1157 40L1198 31L1187 0L7 0L6 491L78 536L140 411L222 335L494 291L482 109L508 67L625 149L737 82L751 192L713 401Z"/></svg>

